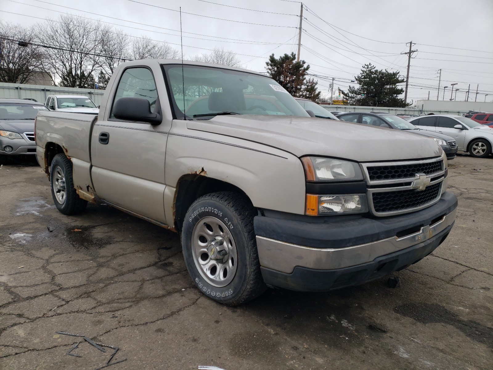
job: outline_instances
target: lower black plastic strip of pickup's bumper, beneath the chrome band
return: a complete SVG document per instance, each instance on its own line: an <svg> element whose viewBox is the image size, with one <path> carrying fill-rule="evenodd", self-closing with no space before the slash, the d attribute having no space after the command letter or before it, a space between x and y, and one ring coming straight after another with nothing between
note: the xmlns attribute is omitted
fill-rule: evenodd
<svg viewBox="0 0 493 370"><path fill-rule="evenodd" d="M356 266L334 270L297 266L290 274L265 267L260 269L265 284L293 291L326 292L359 285L402 270L428 256L447 238L453 225L423 243Z"/></svg>

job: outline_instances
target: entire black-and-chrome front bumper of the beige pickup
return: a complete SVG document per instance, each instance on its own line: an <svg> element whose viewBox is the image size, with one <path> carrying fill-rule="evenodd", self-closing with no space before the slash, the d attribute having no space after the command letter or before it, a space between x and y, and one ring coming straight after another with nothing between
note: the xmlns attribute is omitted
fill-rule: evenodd
<svg viewBox="0 0 493 370"><path fill-rule="evenodd" d="M262 276L268 285L327 291L406 268L442 243L454 224L457 197L410 214L309 223L254 219Z"/></svg>

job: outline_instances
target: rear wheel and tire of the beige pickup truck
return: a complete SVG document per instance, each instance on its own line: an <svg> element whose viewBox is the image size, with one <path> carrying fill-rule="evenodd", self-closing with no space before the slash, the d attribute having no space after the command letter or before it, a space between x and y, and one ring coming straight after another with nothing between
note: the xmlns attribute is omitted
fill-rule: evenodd
<svg viewBox="0 0 493 370"><path fill-rule="evenodd" d="M73 186L72 162L65 154L57 154L51 161L50 187L53 202L64 215L76 215L86 209L87 201L79 198Z"/></svg>

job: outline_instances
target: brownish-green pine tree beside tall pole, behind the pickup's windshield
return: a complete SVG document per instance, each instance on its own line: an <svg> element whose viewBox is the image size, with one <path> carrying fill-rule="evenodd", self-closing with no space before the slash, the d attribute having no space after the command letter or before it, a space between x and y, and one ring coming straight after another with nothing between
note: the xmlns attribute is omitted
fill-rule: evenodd
<svg viewBox="0 0 493 370"><path fill-rule="evenodd" d="M272 54L265 64L269 76L292 96L314 102L320 99L317 82L313 78L306 78L310 65L305 66L304 60L297 62L295 53L281 55L279 59Z"/></svg>

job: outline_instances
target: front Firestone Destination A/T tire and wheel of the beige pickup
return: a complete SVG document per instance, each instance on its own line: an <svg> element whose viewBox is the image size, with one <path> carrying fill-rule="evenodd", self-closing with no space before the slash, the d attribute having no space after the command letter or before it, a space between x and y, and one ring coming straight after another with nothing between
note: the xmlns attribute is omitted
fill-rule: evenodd
<svg viewBox="0 0 493 370"><path fill-rule="evenodd" d="M181 230L183 257L199 290L220 303L238 305L266 289L260 273L250 200L222 191L198 198Z"/></svg>

